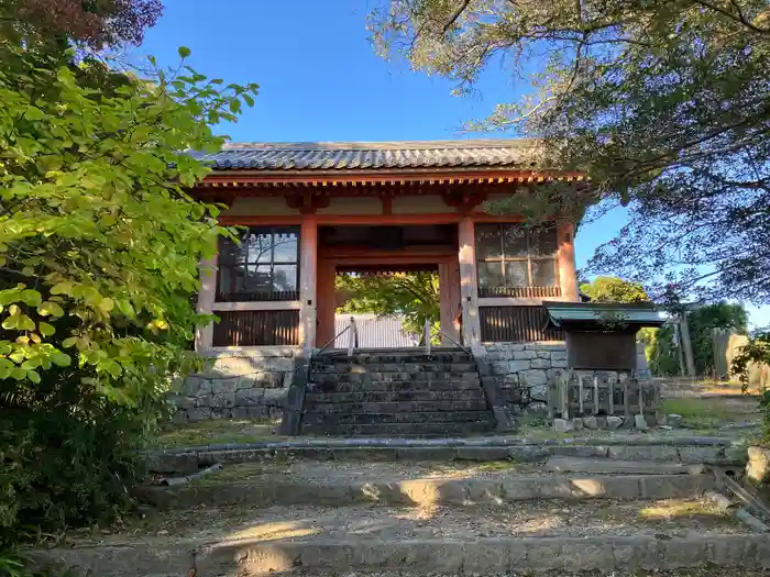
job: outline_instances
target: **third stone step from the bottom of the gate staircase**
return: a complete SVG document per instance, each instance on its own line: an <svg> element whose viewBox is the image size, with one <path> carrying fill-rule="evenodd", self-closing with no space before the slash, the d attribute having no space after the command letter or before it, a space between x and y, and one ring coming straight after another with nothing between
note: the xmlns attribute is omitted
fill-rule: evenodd
<svg viewBox="0 0 770 577"><path fill-rule="evenodd" d="M370 384L371 385L371 384ZM380 386L381 384L377 384ZM393 387L395 382L388 382ZM360 403L360 402L403 402L403 401L476 401L484 400L484 393L477 386L468 389L455 387L446 390L424 390L414 387L405 387L399 390L362 390L356 392L308 392L305 397L305 407L326 403ZM411 385L411 384L408 384ZM432 385L432 384L431 384ZM451 384L450 384L451 385Z"/></svg>

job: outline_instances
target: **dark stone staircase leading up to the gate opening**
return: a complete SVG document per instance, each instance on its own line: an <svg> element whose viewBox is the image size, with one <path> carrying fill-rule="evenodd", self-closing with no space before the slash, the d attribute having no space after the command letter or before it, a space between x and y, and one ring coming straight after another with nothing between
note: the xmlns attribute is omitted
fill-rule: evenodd
<svg viewBox="0 0 770 577"><path fill-rule="evenodd" d="M327 352L312 359L302 434L446 436L494 429L462 349Z"/></svg>

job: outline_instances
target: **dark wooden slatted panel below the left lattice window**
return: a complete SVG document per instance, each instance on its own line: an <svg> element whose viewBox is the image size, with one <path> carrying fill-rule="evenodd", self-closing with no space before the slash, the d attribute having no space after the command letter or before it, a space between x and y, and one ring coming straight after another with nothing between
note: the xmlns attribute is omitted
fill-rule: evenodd
<svg viewBox="0 0 770 577"><path fill-rule="evenodd" d="M218 311L213 346L299 344L299 311Z"/></svg>

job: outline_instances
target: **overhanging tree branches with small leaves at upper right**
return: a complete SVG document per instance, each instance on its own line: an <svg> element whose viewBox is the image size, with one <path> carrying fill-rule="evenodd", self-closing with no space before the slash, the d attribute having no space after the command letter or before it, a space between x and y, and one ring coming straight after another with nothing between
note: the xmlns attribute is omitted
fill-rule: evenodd
<svg viewBox="0 0 770 577"><path fill-rule="evenodd" d="M510 70L522 97L470 127L542 137L540 167L588 174L591 192L529 192L551 209L627 207L591 271L656 300L770 300L768 0L382 0L370 29L381 53L461 92Z"/></svg>

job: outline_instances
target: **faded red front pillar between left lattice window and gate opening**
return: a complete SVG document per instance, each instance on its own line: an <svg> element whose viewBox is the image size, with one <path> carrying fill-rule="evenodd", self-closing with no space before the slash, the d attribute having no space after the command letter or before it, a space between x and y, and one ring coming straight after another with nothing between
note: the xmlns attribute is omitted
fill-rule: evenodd
<svg viewBox="0 0 770 577"><path fill-rule="evenodd" d="M318 307L318 226L315 217L306 215L302 220L299 243L299 344L305 348L314 348Z"/></svg>

